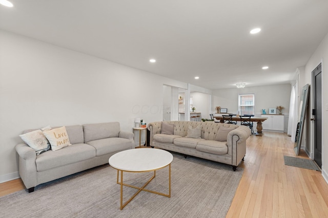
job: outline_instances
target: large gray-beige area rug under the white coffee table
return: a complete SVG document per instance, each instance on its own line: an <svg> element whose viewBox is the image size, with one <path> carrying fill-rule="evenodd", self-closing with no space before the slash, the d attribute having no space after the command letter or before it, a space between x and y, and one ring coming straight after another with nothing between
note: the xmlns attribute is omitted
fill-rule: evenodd
<svg viewBox="0 0 328 218"><path fill-rule="evenodd" d="M46 184L35 191L0 198L1 217L225 217L243 169L173 154L171 198L141 191L119 209L117 171L103 165ZM168 192L168 167L156 171L148 189ZM125 173L125 183L141 186L152 173ZM124 201L136 189L124 187Z"/></svg>

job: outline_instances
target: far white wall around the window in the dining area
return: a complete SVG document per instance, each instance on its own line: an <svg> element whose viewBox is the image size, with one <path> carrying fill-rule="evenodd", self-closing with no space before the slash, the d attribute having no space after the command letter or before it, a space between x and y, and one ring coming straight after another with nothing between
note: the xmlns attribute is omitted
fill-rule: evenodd
<svg viewBox="0 0 328 218"><path fill-rule="evenodd" d="M261 114L262 109L269 114L269 108L276 108L279 105L284 107L282 114L289 114L291 89L291 84L280 84L213 90L212 111L216 112L215 108L220 106L228 108L228 113L237 113L238 94L255 94L254 114Z"/></svg>

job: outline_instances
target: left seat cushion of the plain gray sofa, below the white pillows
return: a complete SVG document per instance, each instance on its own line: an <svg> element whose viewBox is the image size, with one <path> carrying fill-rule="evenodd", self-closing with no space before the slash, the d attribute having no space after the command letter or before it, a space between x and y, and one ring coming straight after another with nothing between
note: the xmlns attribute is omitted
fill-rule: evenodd
<svg viewBox="0 0 328 218"><path fill-rule="evenodd" d="M88 160L96 156L96 150L89 144L72 144L58 151L47 151L36 157L37 172L65 166L83 160Z"/></svg>

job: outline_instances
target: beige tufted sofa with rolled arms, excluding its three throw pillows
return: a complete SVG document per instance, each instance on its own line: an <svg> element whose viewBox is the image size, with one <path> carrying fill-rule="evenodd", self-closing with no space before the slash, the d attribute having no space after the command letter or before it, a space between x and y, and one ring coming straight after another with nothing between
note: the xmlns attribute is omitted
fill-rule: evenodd
<svg viewBox="0 0 328 218"><path fill-rule="evenodd" d="M174 125L174 134L161 134L162 122L148 125L150 131L150 146L181 154L200 157L221 163L230 164L236 171L238 164L246 154L246 140L251 130L245 126L221 124L214 122L169 121ZM187 138L188 127L201 127L200 138ZM220 127L236 128L229 132L227 141L217 141L216 134Z"/></svg>

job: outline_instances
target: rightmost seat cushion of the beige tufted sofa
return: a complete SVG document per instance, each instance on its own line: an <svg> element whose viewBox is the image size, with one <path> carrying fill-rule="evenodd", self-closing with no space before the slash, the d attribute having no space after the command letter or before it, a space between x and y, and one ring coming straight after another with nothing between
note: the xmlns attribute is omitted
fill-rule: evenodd
<svg viewBox="0 0 328 218"><path fill-rule="evenodd" d="M197 143L196 150L212 154L227 154L228 146L227 142L204 140Z"/></svg>

